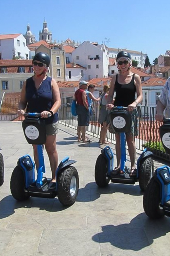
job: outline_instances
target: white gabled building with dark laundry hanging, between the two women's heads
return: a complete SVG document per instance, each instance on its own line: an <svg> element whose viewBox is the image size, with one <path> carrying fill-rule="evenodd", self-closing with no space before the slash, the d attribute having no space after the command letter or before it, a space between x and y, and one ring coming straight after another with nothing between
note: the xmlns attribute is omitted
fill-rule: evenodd
<svg viewBox="0 0 170 256"><path fill-rule="evenodd" d="M104 45L84 41L72 52L72 62L86 68L84 80L108 77L109 55Z"/></svg>

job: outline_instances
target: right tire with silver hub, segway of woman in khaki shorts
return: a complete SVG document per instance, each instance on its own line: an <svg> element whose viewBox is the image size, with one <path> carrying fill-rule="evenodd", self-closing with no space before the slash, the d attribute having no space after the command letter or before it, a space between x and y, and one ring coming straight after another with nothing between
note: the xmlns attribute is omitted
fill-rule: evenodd
<svg viewBox="0 0 170 256"><path fill-rule="evenodd" d="M79 187L78 172L74 166L67 166L58 174L57 195L64 206L71 206L76 202Z"/></svg>

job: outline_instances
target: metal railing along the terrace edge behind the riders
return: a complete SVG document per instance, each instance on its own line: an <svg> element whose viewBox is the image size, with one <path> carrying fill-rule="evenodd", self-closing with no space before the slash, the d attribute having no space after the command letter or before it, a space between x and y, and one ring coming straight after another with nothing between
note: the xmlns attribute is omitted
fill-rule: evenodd
<svg viewBox="0 0 170 256"><path fill-rule="evenodd" d="M72 129L77 129L77 117L71 114L72 98L61 98L59 108L59 122ZM22 121L17 117L17 107L19 100L8 98L6 101L0 99L0 121ZM87 134L92 137L100 137L101 125L98 123L100 102L93 102L93 115L90 118L89 126L86 127ZM164 153L159 136L160 122L155 121L156 108L149 106L137 106L139 115L139 135L135 137L136 148L139 150L147 147L160 158L170 160L169 155ZM115 134L107 132L107 140L114 143Z"/></svg>

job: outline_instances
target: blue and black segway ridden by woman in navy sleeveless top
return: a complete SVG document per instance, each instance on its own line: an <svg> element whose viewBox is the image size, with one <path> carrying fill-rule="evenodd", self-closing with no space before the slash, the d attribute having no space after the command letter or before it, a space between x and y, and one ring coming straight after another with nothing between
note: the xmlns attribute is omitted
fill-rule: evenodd
<svg viewBox="0 0 170 256"><path fill-rule="evenodd" d="M49 115L50 116L50 115ZM75 160L64 158L56 170L56 186L49 189L51 179L43 177L45 173L43 144L46 142L45 122L38 113L25 113L22 122L24 135L29 144L36 144L39 158L37 179L35 179L35 163L29 155L18 159L11 180L10 191L12 196L23 201L31 197L55 198L65 206L75 203L78 194L79 178L78 172L72 166Z"/></svg>

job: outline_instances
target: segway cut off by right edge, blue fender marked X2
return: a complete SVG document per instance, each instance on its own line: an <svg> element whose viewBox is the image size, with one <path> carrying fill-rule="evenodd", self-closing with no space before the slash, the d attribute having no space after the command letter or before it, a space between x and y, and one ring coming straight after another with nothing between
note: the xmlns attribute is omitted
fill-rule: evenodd
<svg viewBox="0 0 170 256"><path fill-rule="evenodd" d="M170 154L170 118L164 118L160 127L160 137L166 153ZM143 197L143 207L151 219L164 215L170 217L170 168L164 165L155 170Z"/></svg>

